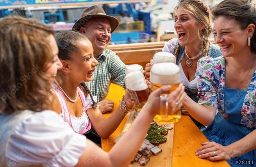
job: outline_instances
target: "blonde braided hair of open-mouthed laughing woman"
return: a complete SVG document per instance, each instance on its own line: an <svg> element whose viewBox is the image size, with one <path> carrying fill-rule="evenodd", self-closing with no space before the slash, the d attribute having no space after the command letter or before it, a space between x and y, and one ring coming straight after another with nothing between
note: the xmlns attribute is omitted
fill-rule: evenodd
<svg viewBox="0 0 256 167"><path fill-rule="evenodd" d="M180 3L174 8L174 15L178 8L183 8L189 11L196 18L197 22L204 25L204 28L198 30L199 39L202 41L202 55L207 55L207 44L209 42L208 38L211 33L211 12L210 8L201 0L181 0ZM174 53L177 57L180 52L180 44Z"/></svg>

